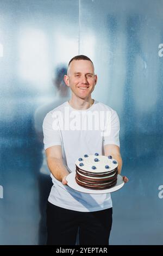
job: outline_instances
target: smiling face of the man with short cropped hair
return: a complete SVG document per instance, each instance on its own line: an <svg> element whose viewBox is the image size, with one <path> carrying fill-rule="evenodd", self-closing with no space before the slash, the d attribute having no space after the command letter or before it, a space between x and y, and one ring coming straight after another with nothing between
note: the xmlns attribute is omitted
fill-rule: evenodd
<svg viewBox="0 0 163 256"><path fill-rule="evenodd" d="M87 99L97 82L97 76L89 60L73 60L68 68L68 76L65 75L64 78L66 85L80 99Z"/></svg>

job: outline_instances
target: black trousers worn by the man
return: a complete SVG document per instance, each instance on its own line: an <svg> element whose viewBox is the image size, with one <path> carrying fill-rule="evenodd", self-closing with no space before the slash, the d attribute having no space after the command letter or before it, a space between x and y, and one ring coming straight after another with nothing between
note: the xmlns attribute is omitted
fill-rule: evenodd
<svg viewBox="0 0 163 256"><path fill-rule="evenodd" d="M112 208L80 212L47 203L47 245L109 245Z"/></svg>

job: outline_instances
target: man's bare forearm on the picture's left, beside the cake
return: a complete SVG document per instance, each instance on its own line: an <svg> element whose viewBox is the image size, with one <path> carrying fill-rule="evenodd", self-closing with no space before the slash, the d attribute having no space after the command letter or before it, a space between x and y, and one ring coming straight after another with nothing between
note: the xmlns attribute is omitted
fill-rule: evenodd
<svg viewBox="0 0 163 256"><path fill-rule="evenodd" d="M66 176L69 174L62 161L61 145L55 145L45 150L47 156L48 168L55 177L55 179L66 185Z"/></svg>

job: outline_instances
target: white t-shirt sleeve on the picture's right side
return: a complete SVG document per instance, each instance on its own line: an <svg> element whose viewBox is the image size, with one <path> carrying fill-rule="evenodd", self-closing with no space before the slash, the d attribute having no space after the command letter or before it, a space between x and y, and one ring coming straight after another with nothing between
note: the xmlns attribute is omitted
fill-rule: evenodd
<svg viewBox="0 0 163 256"><path fill-rule="evenodd" d="M106 125L108 126L108 132L104 132L104 145L115 144L120 147L120 119L116 111L111 111Z"/></svg>

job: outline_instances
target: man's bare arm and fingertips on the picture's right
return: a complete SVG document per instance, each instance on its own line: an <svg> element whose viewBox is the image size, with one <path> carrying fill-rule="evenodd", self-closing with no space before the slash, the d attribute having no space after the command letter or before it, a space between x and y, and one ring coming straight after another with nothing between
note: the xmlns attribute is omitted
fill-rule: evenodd
<svg viewBox="0 0 163 256"><path fill-rule="evenodd" d="M121 174L122 157L120 153L120 147L118 147L115 144L104 145L104 153L105 153L105 156L111 155L118 162L118 174ZM123 176L123 181L127 182L128 178L126 176Z"/></svg>

